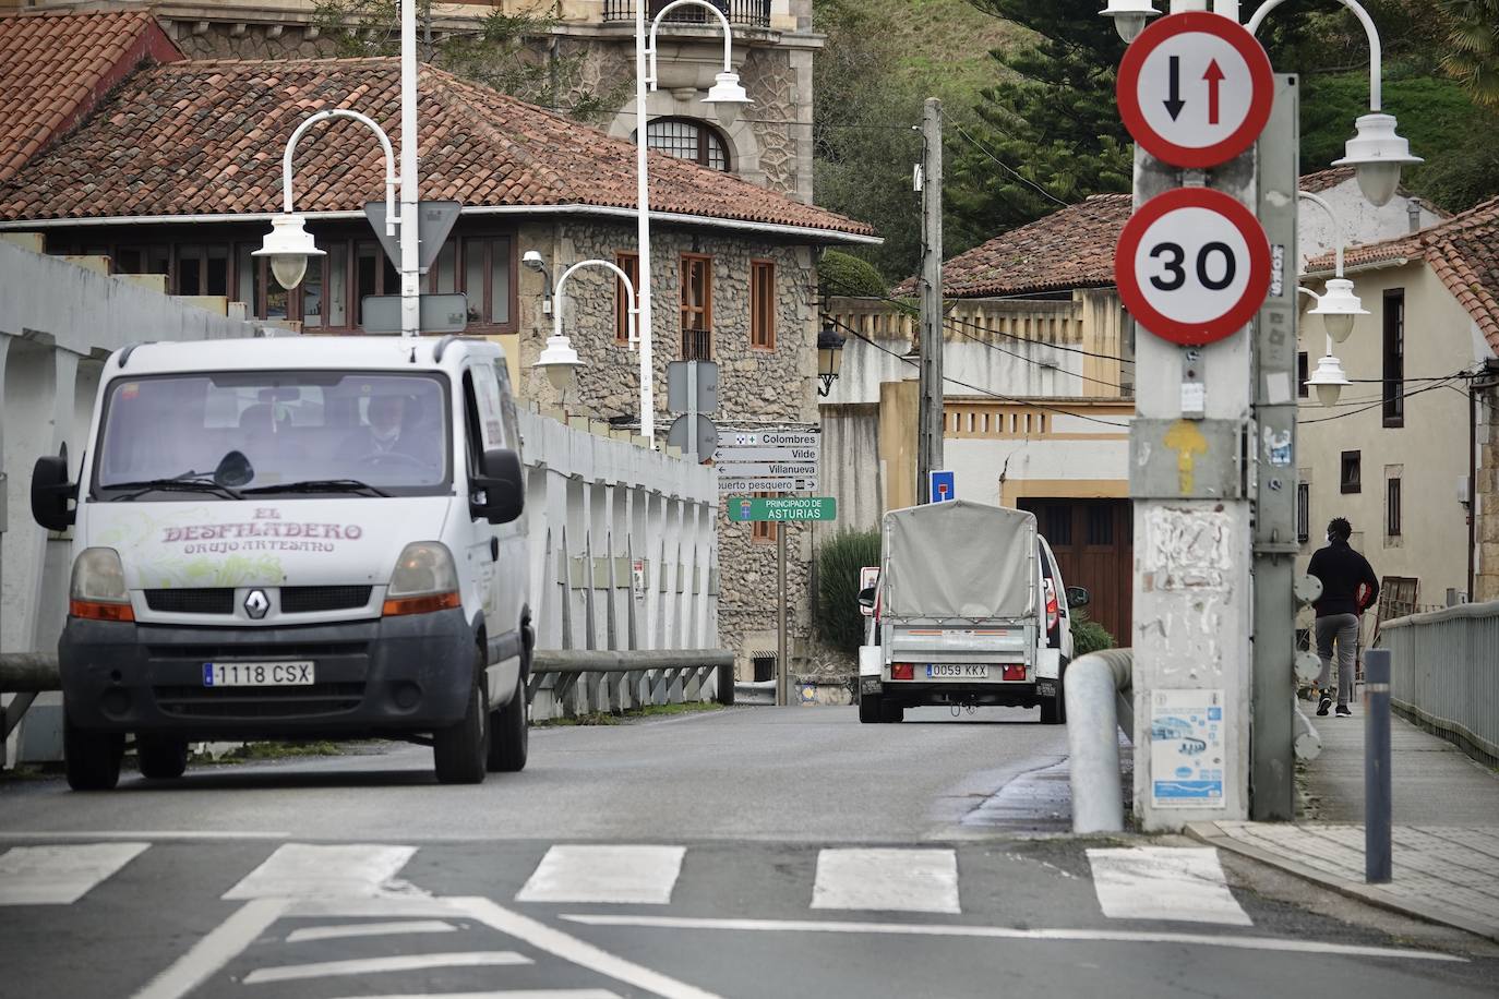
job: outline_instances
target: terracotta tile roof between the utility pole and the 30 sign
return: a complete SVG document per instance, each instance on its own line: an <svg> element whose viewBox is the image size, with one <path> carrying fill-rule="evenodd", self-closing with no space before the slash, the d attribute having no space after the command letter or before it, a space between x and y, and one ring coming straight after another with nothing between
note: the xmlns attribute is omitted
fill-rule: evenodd
<svg viewBox="0 0 1499 999"><path fill-rule="evenodd" d="M1129 195L1093 195L1058 208L944 262L943 294L986 298L1112 285L1114 244L1129 216ZM914 279L895 289L914 292Z"/></svg>

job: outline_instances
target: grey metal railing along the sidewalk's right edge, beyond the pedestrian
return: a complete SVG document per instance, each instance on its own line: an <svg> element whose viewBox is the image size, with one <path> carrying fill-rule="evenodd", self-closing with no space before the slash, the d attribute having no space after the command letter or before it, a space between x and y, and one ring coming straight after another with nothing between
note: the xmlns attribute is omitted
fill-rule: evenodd
<svg viewBox="0 0 1499 999"><path fill-rule="evenodd" d="M1499 765L1499 601L1385 622L1390 704L1469 756Z"/></svg>

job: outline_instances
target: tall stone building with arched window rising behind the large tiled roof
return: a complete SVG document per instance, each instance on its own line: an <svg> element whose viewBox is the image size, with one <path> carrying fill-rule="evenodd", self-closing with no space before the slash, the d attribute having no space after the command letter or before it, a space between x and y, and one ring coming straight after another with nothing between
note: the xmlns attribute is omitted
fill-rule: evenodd
<svg viewBox="0 0 1499 999"><path fill-rule="evenodd" d="M669 0L642 0L654 16ZM812 0L712 0L733 27L735 69L754 103L744 114L715 112L703 91L723 67L723 33L712 15L678 7L660 27L660 87L649 94L652 148L726 169L745 180L812 201ZM538 60L577 63L577 87L606 96L609 135L631 138L636 0L451 0L432 4L430 34L441 43L471 34L493 10L552 15L555 25L532 45ZM316 58L336 54L318 24L318 0L0 0L55 10L141 10L189 58ZM562 103L567 103L564 99Z"/></svg>

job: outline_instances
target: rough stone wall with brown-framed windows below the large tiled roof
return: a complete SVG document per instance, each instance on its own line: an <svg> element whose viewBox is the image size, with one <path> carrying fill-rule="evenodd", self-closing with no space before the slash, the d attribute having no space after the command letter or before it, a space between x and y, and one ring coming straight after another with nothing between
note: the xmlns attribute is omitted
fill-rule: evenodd
<svg viewBox="0 0 1499 999"><path fill-rule="evenodd" d="M522 229L520 249L537 249L555 273L583 259L613 261L616 252L634 252L636 229L621 223L564 222ZM652 228L652 303L655 330L655 412L658 439L666 437L672 415L666 409L666 371L681 352L682 253L712 256L714 359L720 365L720 410L711 418L720 431L758 427L814 427L817 424L815 271L812 250L751 234ZM778 295L773 350L750 346L750 262L775 262ZM564 288L562 324L585 361L577 388L559 400L550 383L529 373L552 333L552 318L540 310L541 279L522 271L522 370L525 394L543 407L564 403L570 415L634 422L640 412L640 355L615 340L615 277L604 268L582 268ZM812 535L808 526L790 526L787 580L791 605L790 634L811 637ZM752 541L750 524L730 523L718 514L720 586L718 629L726 649L739 655L739 675L750 674L751 652L775 650L775 544Z"/></svg>

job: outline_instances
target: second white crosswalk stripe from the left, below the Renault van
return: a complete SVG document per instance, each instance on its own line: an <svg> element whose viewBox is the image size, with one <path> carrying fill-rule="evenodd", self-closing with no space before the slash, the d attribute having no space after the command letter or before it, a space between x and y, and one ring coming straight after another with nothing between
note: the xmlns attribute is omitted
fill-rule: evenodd
<svg viewBox="0 0 1499 999"><path fill-rule="evenodd" d="M390 894L388 885L415 846L286 843L265 858L225 899L346 899Z"/></svg>

